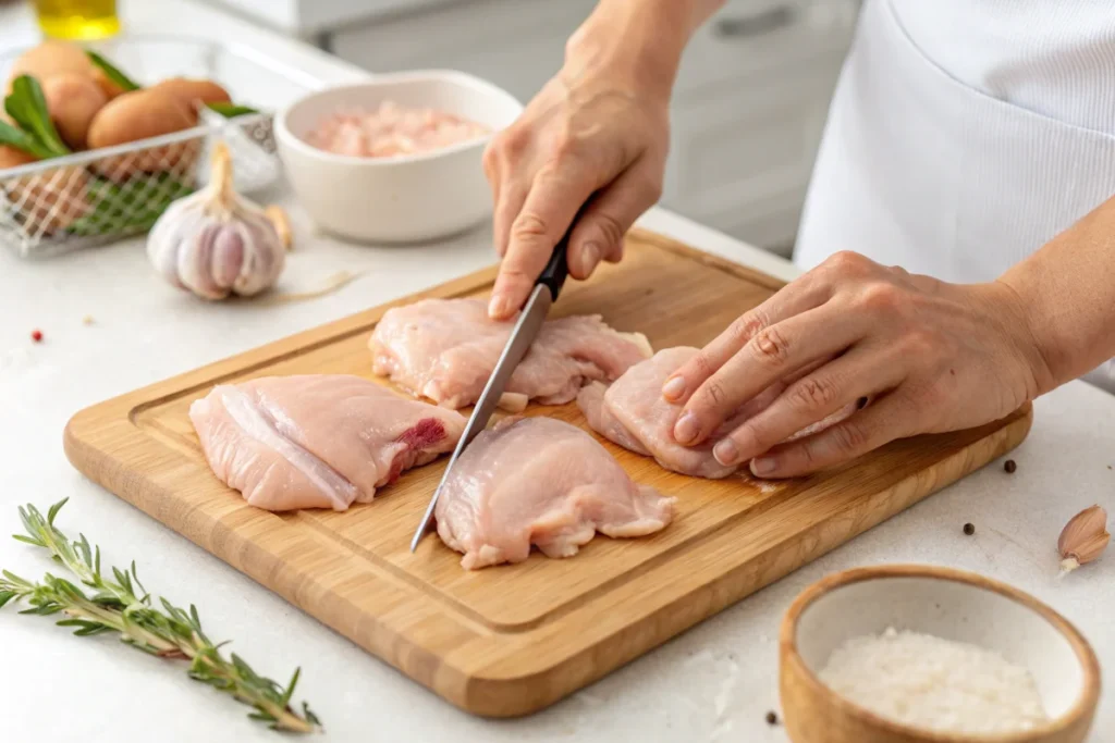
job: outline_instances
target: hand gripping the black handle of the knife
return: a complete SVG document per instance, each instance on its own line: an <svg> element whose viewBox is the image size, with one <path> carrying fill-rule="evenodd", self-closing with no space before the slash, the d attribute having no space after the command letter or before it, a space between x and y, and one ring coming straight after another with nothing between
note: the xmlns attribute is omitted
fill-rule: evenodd
<svg viewBox="0 0 1115 743"><path fill-rule="evenodd" d="M677 61L629 59L615 23L590 19L570 40L562 70L484 153L503 262L493 319L522 307L554 246L585 203L569 242L569 273L588 278L617 262L623 234L659 198ZM678 52L680 53L680 52Z"/></svg>

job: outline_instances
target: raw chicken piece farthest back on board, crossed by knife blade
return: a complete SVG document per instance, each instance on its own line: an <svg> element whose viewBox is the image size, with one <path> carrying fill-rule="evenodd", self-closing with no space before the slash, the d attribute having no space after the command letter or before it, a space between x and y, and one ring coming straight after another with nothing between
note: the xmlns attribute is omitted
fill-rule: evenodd
<svg viewBox="0 0 1115 743"><path fill-rule="evenodd" d="M423 300L384 314L368 345L377 374L445 408L476 402L514 322L487 316L483 300ZM507 384L501 407L527 400L562 404L586 381L614 380L651 354L639 333L620 333L599 315L550 320Z"/></svg>

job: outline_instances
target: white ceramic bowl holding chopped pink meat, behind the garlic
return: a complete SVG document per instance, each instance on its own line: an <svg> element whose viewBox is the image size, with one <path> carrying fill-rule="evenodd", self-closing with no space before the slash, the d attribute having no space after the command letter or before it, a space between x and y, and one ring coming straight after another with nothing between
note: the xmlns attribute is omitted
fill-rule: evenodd
<svg viewBox="0 0 1115 743"><path fill-rule="evenodd" d="M275 138L290 185L313 221L356 241L407 243L459 233L491 215L481 162L491 135L397 157L334 155L304 141L338 109L371 110L384 100L443 110L493 133L523 110L511 94L450 70L377 75L299 99L275 117Z"/></svg>

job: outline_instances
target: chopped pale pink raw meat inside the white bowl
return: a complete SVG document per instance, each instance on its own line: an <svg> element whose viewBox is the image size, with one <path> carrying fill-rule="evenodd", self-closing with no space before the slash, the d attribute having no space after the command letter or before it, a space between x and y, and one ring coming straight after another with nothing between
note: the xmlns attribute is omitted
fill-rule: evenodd
<svg viewBox="0 0 1115 743"><path fill-rule="evenodd" d="M391 157L442 149L483 137L489 129L432 108L404 108L385 100L367 113L339 110L306 135L307 143L336 155Z"/></svg>

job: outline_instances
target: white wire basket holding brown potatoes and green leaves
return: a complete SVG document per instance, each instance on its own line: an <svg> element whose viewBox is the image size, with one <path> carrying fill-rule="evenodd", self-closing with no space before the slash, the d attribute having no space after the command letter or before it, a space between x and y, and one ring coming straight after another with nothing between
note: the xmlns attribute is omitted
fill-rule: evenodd
<svg viewBox="0 0 1115 743"><path fill-rule="evenodd" d="M312 87L209 41L122 37L95 48L140 82L206 77L255 108L278 108ZM0 57L0 79L19 53ZM219 140L229 147L237 190L250 194L279 177L270 114L225 119L203 109L198 126L185 131L0 170L0 244L46 257L144 233L174 199L205 185Z"/></svg>

